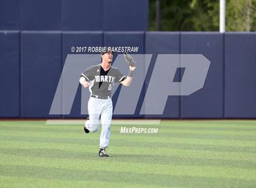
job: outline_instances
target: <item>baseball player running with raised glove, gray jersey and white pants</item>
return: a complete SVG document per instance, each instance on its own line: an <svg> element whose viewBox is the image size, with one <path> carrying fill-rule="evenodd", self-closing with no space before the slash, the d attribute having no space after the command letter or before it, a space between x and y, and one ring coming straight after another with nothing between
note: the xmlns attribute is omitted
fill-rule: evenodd
<svg viewBox="0 0 256 188"><path fill-rule="evenodd" d="M113 52L104 51L101 53L101 64L88 67L79 79L80 84L90 90L88 101L89 117L85 121L85 133L96 132L99 129L99 119L101 118L101 136L99 139L99 156L108 156L105 149L110 140L110 124L112 121L112 86L119 82L123 86L130 86L134 65L129 65L129 73L123 75L118 69L112 67Z"/></svg>

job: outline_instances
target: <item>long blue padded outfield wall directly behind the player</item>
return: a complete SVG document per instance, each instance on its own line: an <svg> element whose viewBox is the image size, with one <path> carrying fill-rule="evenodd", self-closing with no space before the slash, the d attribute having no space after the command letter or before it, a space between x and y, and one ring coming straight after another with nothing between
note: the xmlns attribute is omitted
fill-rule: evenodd
<svg viewBox="0 0 256 188"><path fill-rule="evenodd" d="M90 45L132 45L138 53L152 54L135 115L119 118L256 118L256 33L49 31L0 31L0 117L84 117L80 86L70 115L49 115L49 110L71 46ZM169 96L162 116L141 116L155 59L166 53L208 58L204 87L189 96ZM113 96L114 106L120 90Z"/></svg>

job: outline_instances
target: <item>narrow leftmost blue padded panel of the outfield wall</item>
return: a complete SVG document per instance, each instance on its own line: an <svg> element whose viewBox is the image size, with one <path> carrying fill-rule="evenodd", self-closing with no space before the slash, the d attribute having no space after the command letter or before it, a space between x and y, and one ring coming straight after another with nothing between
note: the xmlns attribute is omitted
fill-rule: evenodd
<svg viewBox="0 0 256 188"><path fill-rule="evenodd" d="M0 31L0 117L20 116L20 32Z"/></svg>

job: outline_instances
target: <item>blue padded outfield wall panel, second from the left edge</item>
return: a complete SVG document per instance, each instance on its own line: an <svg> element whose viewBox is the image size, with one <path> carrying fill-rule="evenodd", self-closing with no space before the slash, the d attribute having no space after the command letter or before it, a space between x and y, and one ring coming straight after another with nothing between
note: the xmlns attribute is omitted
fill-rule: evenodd
<svg viewBox="0 0 256 188"><path fill-rule="evenodd" d="M21 32L21 117L48 118L62 71L62 33Z"/></svg>

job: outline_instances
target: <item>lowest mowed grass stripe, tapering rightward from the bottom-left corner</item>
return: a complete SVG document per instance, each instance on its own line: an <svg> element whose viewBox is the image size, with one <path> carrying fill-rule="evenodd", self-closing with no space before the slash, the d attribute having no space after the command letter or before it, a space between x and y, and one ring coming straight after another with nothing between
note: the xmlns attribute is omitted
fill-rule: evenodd
<svg viewBox="0 0 256 188"><path fill-rule="evenodd" d="M23 169L24 170L24 169ZM10 170L9 170L10 172ZM24 174L25 173L25 174ZM8 187L26 187L26 188L35 188L35 187L41 187L41 188L49 188L49 187L155 187L151 185L143 185L143 184L129 184L129 183L114 183L114 182L108 182L107 186L105 181L90 181L89 178L83 177L84 173L82 174L83 176L79 176L81 179L80 180L74 180L73 175L67 173L69 175L68 180L66 178L63 178L61 176L61 179L52 179L49 176L43 175L40 173L40 175L36 176L41 176L42 178L35 178L35 177L30 177L27 178L26 176L31 176L29 174L26 174L24 172L23 175L17 175L17 176L0 176L0 187L5 187L5 184L8 184ZM35 172L38 173L38 172ZM63 173L63 172L62 172ZM51 173L50 173L51 174ZM73 178L73 179L71 179ZM86 180L86 181L85 181ZM160 188L163 186L159 186Z"/></svg>

